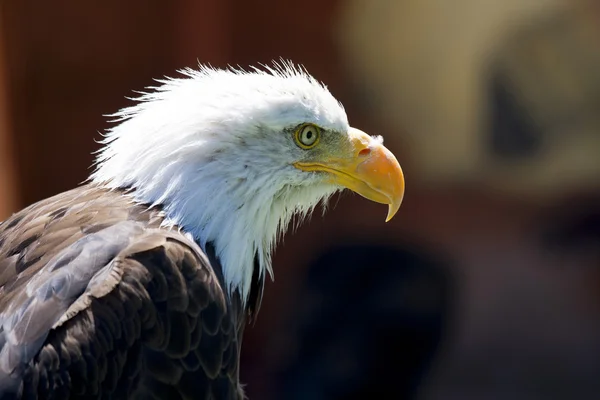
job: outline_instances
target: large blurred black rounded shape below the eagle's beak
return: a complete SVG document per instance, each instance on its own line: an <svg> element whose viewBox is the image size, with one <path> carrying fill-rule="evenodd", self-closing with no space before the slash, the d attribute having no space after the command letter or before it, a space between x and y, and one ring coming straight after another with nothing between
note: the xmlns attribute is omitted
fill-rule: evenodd
<svg viewBox="0 0 600 400"><path fill-rule="evenodd" d="M447 265L428 257L355 244L311 263L276 352L276 397L412 398L449 331L456 296Z"/></svg>

